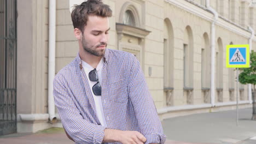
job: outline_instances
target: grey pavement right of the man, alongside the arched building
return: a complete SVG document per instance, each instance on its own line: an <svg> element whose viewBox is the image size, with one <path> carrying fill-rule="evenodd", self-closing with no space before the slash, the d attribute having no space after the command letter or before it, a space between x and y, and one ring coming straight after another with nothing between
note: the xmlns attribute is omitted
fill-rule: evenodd
<svg viewBox="0 0 256 144"><path fill-rule="evenodd" d="M200 113L190 116L174 117L162 121L167 139L219 144L255 144L250 140L256 136L256 121L251 121L252 108L238 110L238 127L236 110Z"/></svg>

